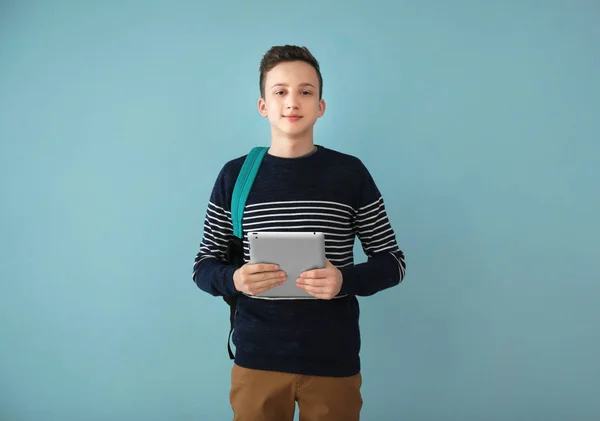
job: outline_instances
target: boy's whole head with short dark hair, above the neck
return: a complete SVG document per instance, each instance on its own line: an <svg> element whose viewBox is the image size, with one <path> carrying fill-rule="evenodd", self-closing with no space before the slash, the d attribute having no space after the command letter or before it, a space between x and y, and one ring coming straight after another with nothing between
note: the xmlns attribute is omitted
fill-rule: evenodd
<svg viewBox="0 0 600 421"><path fill-rule="evenodd" d="M306 47L272 47L260 63L259 83L258 109L274 130L293 137L312 132L325 101L319 63Z"/></svg>

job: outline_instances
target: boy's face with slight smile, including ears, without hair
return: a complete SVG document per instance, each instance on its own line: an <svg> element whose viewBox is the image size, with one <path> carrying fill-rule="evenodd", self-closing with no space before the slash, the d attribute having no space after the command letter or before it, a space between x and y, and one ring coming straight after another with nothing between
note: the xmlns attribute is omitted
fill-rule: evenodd
<svg viewBox="0 0 600 421"><path fill-rule="evenodd" d="M303 61L279 63L267 73L265 97L258 100L258 110L269 119L272 129L283 135L312 133L325 112L316 70Z"/></svg>

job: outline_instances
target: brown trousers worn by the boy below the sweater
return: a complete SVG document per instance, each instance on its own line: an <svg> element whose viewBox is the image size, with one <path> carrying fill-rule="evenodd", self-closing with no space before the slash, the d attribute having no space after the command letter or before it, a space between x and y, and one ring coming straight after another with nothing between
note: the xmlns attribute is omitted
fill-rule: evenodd
<svg viewBox="0 0 600 421"><path fill-rule="evenodd" d="M234 364L229 398L234 421L359 421L361 374L302 376L251 370Z"/></svg>

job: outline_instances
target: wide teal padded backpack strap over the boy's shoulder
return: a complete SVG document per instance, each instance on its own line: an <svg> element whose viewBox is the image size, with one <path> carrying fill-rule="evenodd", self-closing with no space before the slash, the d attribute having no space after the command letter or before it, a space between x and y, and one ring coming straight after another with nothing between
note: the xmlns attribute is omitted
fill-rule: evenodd
<svg viewBox="0 0 600 421"><path fill-rule="evenodd" d="M233 187L233 196L231 198L231 219L233 221L233 235L237 238L243 237L242 218L244 217L244 208L246 199L252 189L252 184L260 168L260 164L269 148L256 146L248 153L244 165L238 175Z"/></svg>

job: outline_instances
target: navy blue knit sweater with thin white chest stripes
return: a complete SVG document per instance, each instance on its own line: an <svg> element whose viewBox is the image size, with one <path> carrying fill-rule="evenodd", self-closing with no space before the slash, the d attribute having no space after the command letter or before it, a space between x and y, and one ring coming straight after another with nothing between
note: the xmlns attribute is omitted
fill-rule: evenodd
<svg viewBox="0 0 600 421"><path fill-rule="evenodd" d="M246 368L343 377L360 371L359 305L404 278L383 198L363 163L323 146L300 158L265 155L242 222L245 261L249 231L320 231L326 256L343 275L332 300L269 299L236 291L225 262L233 236L231 196L245 156L226 163L214 185L193 279L214 296L239 294L233 343ZM355 237L368 258L355 264ZM225 313L224 313L225 314Z"/></svg>

